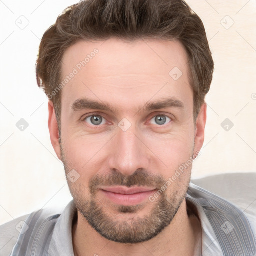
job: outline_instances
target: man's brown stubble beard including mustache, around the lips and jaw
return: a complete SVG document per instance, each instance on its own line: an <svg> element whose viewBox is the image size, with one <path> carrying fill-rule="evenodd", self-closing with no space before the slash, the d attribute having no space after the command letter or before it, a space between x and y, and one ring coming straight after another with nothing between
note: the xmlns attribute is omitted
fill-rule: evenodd
<svg viewBox="0 0 256 256"><path fill-rule="evenodd" d="M61 154L67 174L71 168L66 164L62 149ZM161 176L151 176L146 171L138 169L130 176L124 176L116 171L107 176L95 175L89 180L88 188L77 182L78 180L77 184L71 183L69 180L67 182L77 210L92 228L108 240L134 244L152 239L171 223L186 196L190 182L190 175L189 178L186 173L181 175L184 177L178 177L179 180L176 179L175 183L172 183L165 191L158 193L159 197L154 202L146 200L141 204L131 206L116 204L109 206L109 202L99 201L97 199L98 187L100 185L125 185L128 187L148 185L157 187L157 191L159 191L166 180ZM85 198L84 194L88 193L88 190L90 198ZM148 207L148 204L152 204L150 213L140 217L139 212L144 207ZM120 217L118 219L120 214L123 214L124 219L128 214L135 216L124 220Z"/></svg>

